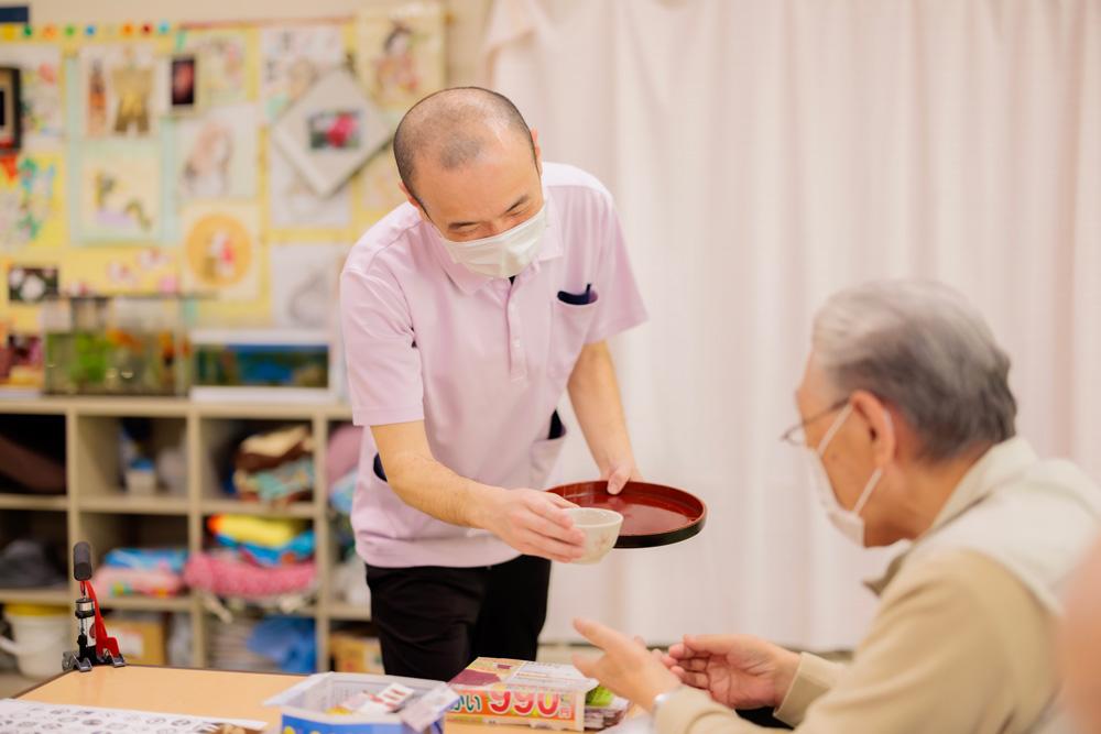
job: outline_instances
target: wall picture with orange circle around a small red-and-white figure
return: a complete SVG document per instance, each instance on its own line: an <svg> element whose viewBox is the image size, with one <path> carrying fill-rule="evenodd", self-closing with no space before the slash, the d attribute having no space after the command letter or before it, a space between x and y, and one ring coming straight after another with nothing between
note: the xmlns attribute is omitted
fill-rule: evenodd
<svg viewBox="0 0 1101 734"><path fill-rule="evenodd" d="M225 300L251 300L260 292L262 248L252 206L199 206L184 212L184 289Z"/></svg>

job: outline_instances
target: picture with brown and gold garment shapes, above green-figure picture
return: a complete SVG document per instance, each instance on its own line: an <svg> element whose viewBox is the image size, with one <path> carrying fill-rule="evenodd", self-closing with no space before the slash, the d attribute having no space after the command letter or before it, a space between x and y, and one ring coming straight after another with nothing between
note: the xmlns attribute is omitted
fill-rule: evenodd
<svg viewBox="0 0 1101 734"><path fill-rule="evenodd" d="M152 134L167 109L166 76L164 58L152 44L83 47L80 100L86 134Z"/></svg>

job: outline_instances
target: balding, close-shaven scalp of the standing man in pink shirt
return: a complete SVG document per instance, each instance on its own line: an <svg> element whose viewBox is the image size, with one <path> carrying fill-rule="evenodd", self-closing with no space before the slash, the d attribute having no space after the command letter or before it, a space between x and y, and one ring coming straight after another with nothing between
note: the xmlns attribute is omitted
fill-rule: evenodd
<svg viewBox="0 0 1101 734"><path fill-rule="evenodd" d="M425 97L405 113L394 133L394 158L402 183L419 201L415 185L426 162L456 171L503 141L521 142L535 160L532 131L508 97L481 87L456 87Z"/></svg>

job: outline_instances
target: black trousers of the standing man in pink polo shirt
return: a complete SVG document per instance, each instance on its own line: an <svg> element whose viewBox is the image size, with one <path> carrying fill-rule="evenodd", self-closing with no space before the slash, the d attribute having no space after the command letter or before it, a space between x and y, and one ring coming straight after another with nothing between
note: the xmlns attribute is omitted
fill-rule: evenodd
<svg viewBox="0 0 1101 734"><path fill-rule="evenodd" d="M477 657L534 660L550 561L478 568L368 565L371 618L391 676L450 680Z"/></svg>

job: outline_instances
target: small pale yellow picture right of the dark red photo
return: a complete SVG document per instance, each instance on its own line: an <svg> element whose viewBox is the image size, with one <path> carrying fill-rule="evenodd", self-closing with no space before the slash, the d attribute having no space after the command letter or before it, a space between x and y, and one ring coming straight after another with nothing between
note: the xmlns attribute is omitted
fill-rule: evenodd
<svg viewBox="0 0 1101 734"><path fill-rule="evenodd" d="M249 75L255 57L246 33L188 31L185 48L198 56L198 91L204 105L236 105L254 97L249 90Z"/></svg>

